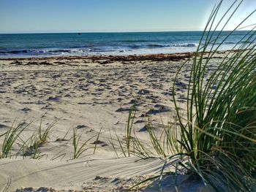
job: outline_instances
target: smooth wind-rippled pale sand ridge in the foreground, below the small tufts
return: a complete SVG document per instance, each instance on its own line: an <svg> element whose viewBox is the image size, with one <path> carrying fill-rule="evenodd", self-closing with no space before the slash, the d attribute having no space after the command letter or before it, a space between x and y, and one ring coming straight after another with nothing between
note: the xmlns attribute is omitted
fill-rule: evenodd
<svg viewBox="0 0 256 192"><path fill-rule="evenodd" d="M9 182L8 191L27 186L62 190L121 190L135 184L135 179L129 180L130 177L136 176L136 180L141 180L139 176L154 174L162 166L160 159L135 160L138 158L78 159L69 162L3 159L0 185Z"/></svg>

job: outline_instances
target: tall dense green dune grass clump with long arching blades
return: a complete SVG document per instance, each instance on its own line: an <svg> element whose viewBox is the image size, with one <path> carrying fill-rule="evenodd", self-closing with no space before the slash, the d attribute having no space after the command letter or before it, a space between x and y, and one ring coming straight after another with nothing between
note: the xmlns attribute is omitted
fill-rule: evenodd
<svg viewBox="0 0 256 192"><path fill-rule="evenodd" d="M176 82L181 69L187 67L184 63L173 83L176 120L165 126L162 140L147 128L154 150L166 157L161 174L149 178L158 177L159 186L166 174L191 174L214 191L256 191L255 28L247 31L220 62L214 60L219 47L255 13L250 13L233 31L225 32L241 3L234 1L220 20L217 16L222 1L211 12L192 61L187 109L179 108L176 99ZM176 164L169 164L177 158ZM166 172L168 166L175 171Z"/></svg>

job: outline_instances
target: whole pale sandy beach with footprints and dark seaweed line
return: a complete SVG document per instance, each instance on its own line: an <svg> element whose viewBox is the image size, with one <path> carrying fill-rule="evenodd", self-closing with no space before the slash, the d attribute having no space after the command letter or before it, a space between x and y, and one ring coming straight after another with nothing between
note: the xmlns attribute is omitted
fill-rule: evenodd
<svg viewBox="0 0 256 192"><path fill-rule="evenodd" d="M224 55L219 53L216 63ZM39 147L39 159L23 157L16 143L12 157L0 159L0 190L124 191L159 173L162 158L117 157L110 135L116 132L124 139L129 108L135 101L139 101L135 121L138 138L150 143L144 127L148 119L161 133L162 123L167 124L175 115L173 78L184 61L188 62L178 76L176 96L180 107L186 107L191 56L1 59L0 135L13 122L30 123L20 135L25 141L37 131L41 118L43 128L57 121L47 142ZM81 142L94 137L86 145L88 150L75 160L72 128L83 133ZM0 146L2 141L3 137ZM118 147L118 142L113 145ZM157 187L151 183L144 190L156 191ZM200 191L201 185L197 183L195 188ZM166 188L173 190L173 185Z"/></svg>

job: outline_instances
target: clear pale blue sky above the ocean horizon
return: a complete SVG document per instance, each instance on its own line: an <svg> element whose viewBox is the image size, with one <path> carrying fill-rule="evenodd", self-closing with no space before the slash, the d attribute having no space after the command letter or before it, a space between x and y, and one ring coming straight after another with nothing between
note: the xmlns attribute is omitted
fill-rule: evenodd
<svg viewBox="0 0 256 192"><path fill-rule="evenodd" d="M233 0L224 1L223 9ZM0 33L202 30L218 0L0 0ZM256 8L245 0L230 29ZM254 18L251 23L255 21Z"/></svg>

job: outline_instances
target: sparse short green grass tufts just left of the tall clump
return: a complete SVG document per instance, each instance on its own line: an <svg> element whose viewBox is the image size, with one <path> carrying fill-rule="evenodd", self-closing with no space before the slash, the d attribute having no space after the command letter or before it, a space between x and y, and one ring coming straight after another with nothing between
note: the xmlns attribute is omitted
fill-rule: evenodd
<svg viewBox="0 0 256 192"><path fill-rule="evenodd" d="M167 137L170 134L170 125L163 126L164 131L158 135L154 131L151 121L146 120L144 128L148 133L150 142L143 142L136 134L135 121L138 115L137 111L136 104L132 104L132 107L129 109L124 138L118 137L117 134L116 138L113 138L110 134L110 145L113 147L116 155L124 157L135 155L140 158L152 158L157 155L167 157L170 154L170 150L172 150L171 147L173 147L173 145L170 145L173 136ZM118 143L118 147L114 145L114 141Z"/></svg>

